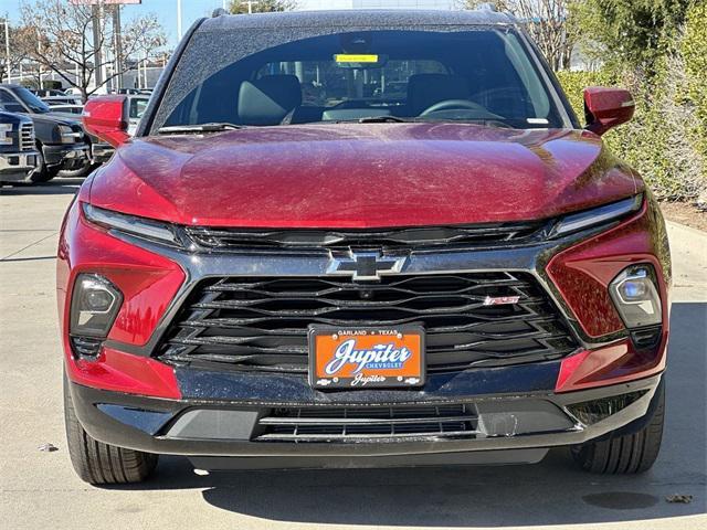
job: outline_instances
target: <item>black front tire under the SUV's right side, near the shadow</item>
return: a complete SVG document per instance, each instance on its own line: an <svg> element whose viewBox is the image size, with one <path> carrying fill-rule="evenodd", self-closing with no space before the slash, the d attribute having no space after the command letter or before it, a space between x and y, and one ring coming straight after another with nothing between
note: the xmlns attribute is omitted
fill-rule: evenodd
<svg viewBox="0 0 707 530"><path fill-rule="evenodd" d="M584 470L602 475L631 475L653 467L661 451L665 420L665 385L656 390L657 404L640 431L611 436L571 448L574 462Z"/></svg>

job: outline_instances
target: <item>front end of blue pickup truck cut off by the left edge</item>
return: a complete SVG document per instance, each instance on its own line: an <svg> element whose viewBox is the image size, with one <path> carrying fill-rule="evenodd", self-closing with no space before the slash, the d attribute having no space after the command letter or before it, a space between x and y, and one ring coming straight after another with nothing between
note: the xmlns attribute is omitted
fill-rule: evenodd
<svg viewBox="0 0 707 530"><path fill-rule="evenodd" d="M0 112L0 183L32 182L35 168L34 124L21 114Z"/></svg>

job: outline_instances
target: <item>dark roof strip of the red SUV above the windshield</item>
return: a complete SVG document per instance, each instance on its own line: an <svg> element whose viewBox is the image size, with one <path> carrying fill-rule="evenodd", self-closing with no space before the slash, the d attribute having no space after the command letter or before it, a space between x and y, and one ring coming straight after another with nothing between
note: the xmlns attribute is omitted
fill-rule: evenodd
<svg viewBox="0 0 707 530"><path fill-rule="evenodd" d="M221 14L203 20L198 32L219 32L279 28L388 28L414 29L421 25L511 25L516 20L506 14L481 9L476 11L443 10L347 10L347 11L289 11L253 13L246 15Z"/></svg>

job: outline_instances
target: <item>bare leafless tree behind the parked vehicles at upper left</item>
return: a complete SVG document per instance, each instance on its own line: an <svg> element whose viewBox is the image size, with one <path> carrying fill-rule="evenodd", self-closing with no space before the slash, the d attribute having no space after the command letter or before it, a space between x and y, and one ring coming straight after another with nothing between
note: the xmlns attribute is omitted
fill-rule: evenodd
<svg viewBox="0 0 707 530"><path fill-rule="evenodd" d="M135 70L139 61L155 56L166 42L157 17L149 14L123 26L120 46L116 50L109 17L113 9L115 7L103 2L97 8L66 0L23 3L23 28L18 46L28 59L78 88L85 102L115 77ZM96 13L102 15L94 17ZM94 19L97 40L94 39ZM114 61L116 57L118 61ZM115 64L123 66L115 68ZM108 65L114 66L113 71L97 83L98 72ZM77 76L70 75L70 72Z"/></svg>

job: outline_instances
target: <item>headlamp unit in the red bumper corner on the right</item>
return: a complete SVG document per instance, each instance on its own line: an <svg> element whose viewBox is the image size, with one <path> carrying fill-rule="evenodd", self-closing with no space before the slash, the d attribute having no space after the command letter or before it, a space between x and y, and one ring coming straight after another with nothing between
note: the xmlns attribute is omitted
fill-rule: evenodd
<svg viewBox="0 0 707 530"><path fill-rule="evenodd" d="M652 265L624 268L611 283L609 292L626 328L661 324L661 296Z"/></svg>

